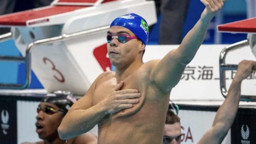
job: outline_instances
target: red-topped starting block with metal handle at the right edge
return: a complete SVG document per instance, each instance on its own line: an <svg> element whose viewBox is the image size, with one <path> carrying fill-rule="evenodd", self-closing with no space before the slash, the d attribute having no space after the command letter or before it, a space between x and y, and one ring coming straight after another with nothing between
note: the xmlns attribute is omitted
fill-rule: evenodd
<svg viewBox="0 0 256 144"><path fill-rule="evenodd" d="M225 59L228 52L240 49L244 46L250 46L253 55L256 57L256 18L240 20L236 22L231 22L227 24L219 25L219 32L229 32L229 33L248 33L247 39L235 44L226 46L220 53L220 91L221 94L226 98L228 91L226 88L226 70L236 70L237 65L226 64ZM253 68L256 70L256 68ZM252 95L241 95L241 100L244 101L256 101L256 96Z"/></svg>

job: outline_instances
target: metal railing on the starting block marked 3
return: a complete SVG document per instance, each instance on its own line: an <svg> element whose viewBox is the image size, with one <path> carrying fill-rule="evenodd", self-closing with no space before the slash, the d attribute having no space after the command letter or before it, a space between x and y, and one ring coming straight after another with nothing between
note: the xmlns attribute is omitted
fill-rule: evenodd
<svg viewBox="0 0 256 144"><path fill-rule="evenodd" d="M24 62L26 65L25 70L25 82L23 84L7 84L7 83L0 83L0 89L26 89L30 85L31 81L31 53L36 45L41 44L51 44L55 42L61 42L65 40L69 40L72 38L85 36L91 33L100 32L108 29L109 26L103 26L99 28L93 28L89 30L84 30L80 32L75 32L71 34L63 34L61 36L51 37L51 38L45 38L41 40L36 40L30 44L28 44L26 49L26 55L24 57L17 57L17 56L0 56L0 61L9 61L9 62ZM0 41L8 40L12 37L12 34L10 33L4 34L0 36Z"/></svg>

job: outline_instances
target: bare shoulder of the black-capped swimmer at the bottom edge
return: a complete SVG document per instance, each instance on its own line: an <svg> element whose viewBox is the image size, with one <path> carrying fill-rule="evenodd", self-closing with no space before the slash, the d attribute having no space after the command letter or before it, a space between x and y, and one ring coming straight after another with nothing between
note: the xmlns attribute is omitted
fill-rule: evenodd
<svg viewBox="0 0 256 144"><path fill-rule="evenodd" d="M77 136L72 144L97 144L98 137L92 133L85 133Z"/></svg>

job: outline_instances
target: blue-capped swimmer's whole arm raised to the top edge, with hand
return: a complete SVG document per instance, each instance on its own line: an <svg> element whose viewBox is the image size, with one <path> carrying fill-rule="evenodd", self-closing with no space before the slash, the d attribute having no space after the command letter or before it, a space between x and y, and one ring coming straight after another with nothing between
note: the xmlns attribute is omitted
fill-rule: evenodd
<svg viewBox="0 0 256 144"><path fill-rule="evenodd" d="M186 65L194 58L202 44L208 25L222 6L224 0L201 0L206 6L201 18L184 37L180 46L156 62L150 76L151 81L163 92L169 92L180 81Z"/></svg>

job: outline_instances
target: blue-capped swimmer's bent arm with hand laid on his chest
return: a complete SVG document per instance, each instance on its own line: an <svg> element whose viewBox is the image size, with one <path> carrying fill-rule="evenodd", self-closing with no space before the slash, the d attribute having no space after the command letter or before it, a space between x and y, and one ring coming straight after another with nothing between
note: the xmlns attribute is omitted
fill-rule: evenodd
<svg viewBox="0 0 256 144"><path fill-rule="evenodd" d="M125 108L132 108L132 104L138 103L140 93L135 89L120 90L123 82L120 82L111 91L108 98L92 106L93 93L97 82L103 76L99 76L87 93L72 105L66 116L63 118L58 133L60 139L67 140L90 131L106 115L114 114Z"/></svg>

